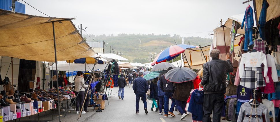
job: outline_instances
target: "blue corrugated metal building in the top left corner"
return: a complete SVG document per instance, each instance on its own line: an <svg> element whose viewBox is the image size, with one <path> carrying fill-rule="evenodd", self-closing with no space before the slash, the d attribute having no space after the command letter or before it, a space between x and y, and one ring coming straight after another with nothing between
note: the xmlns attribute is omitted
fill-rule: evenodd
<svg viewBox="0 0 280 122"><path fill-rule="evenodd" d="M0 0L0 9L12 11L12 0ZM15 12L25 14L25 4L16 1Z"/></svg>

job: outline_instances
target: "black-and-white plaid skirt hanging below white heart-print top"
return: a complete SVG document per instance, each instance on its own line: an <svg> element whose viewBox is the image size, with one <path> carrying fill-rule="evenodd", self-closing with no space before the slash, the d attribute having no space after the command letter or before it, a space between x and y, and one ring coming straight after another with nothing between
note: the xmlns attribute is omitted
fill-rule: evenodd
<svg viewBox="0 0 280 122"><path fill-rule="evenodd" d="M257 90L257 87L264 87L266 83L262 74L261 67L245 67L243 77L241 77L240 85Z"/></svg>

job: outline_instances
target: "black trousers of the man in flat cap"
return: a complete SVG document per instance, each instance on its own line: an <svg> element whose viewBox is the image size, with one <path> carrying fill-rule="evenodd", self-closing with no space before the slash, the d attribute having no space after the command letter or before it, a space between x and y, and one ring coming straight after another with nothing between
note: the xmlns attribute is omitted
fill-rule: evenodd
<svg viewBox="0 0 280 122"><path fill-rule="evenodd" d="M213 111L213 122L221 121L221 111L224 106L224 94L204 94L203 122L210 122L210 115Z"/></svg>

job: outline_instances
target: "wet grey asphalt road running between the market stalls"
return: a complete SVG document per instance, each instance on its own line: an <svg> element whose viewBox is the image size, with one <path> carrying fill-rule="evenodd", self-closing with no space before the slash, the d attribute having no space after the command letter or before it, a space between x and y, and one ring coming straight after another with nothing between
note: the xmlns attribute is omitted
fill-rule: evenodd
<svg viewBox="0 0 280 122"><path fill-rule="evenodd" d="M61 111L61 122L66 121L77 121L77 122L143 122L143 121L153 121L153 122L180 122L181 115L177 115L178 112L174 111L176 117L164 118L163 115L159 115L159 112L151 111L152 101L148 100L148 114L145 114L143 102L139 103L139 115L135 114L135 94L132 90L132 85L129 89L128 86L125 87L124 100L119 100L118 97L118 87L114 87L110 102L106 101L106 109L103 112L96 113L92 111L92 107L89 107L89 113L82 114L79 121L77 121L78 114L75 110L67 114L64 117L66 111ZM109 105L108 105L109 102ZM155 108L154 108L155 110ZM52 119L52 111L47 111L46 113L40 113L40 122L48 121ZM191 122L191 114L185 118L185 122ZM14 120L12 120L14 122ZM16 120L18 121L18 119ZM32 115L30 117L24 117L20 119L21 122L35 122L38 121L38 115ZM58 121L58 111L54 111L53 121ZM183 121L181 121L183 122ZM225 121L223 121L225 122Z"/></svg>

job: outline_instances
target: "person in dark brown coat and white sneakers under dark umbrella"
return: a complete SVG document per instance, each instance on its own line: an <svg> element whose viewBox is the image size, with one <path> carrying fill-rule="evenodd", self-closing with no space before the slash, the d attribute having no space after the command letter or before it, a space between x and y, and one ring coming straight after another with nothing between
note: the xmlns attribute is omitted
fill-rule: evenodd
<svg viewBox="0 0 280 122"><path fill-rule="evenodd" d="M184 118L187 116L185 108L188 97L191 95L191 89L194 88L193 81L174 83L174 87L176 87L176 89L172 98L176 100L177 109L182 115L180 120L185 120Z"/></svg>

